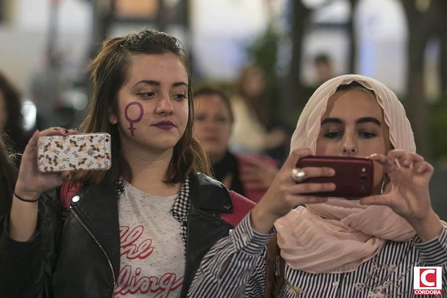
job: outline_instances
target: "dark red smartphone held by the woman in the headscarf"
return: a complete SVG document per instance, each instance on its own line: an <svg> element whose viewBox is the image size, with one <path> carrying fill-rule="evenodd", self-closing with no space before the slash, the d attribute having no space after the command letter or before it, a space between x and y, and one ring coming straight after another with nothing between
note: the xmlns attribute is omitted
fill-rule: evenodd
<svg viewBox="0 0 447 298"><path fill-rule="evenodd" d="M333 177L307 178L299 183L335 183L334 191L311 194L319 197L343 197L357 199L367 197L373 191L373 161L368 158L341 156L306 156L298 160L298 168L330 167Z"/></svg>

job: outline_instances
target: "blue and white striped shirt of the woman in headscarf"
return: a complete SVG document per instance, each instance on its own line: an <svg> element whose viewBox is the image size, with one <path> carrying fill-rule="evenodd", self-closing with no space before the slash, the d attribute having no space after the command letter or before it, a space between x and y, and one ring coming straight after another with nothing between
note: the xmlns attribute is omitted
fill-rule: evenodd
<svg viewBox="0 0 447 298"><path fill-rule="evenodd" d="M254 231L249 214L205 255L188 297L261 298L265 283L265 245L273 236ZM387 241L380 252L349 273L311 274L287 266L281 298L413 297L413 267L443 267L447 297L447 229L422 243ZM440 296L417 296L440 297Z"/></svg>

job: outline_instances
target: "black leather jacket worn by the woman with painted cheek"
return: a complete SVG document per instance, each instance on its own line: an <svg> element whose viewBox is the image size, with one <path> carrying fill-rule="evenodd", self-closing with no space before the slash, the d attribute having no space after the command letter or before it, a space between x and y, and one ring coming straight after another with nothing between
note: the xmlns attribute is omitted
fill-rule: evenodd
<svg viewBox="0 0 447 298"><path fill-rule="evenodd" d="M7 298L111 298L120 270L120 234L115 184L81 188L65 223L60 188L39 201L38 231L29 242L0 238L0 296ZM200 261L228 235L221 219L232 212L222 184L197 173L190 176L191 210L187 219L186 267L181 297L186 297Z"/></svg>

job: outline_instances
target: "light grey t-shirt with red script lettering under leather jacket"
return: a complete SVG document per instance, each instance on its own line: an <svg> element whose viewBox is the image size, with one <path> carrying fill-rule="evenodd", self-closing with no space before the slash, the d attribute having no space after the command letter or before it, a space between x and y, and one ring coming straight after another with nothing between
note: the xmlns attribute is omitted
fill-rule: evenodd
<svg viewBox="0 0 447 298"><path fill-rule="evenodd" d="M185 257L181 225L170 211L176 197L148 195L124 181L118 200L121 268L113 297L180 297Z"/></svg>

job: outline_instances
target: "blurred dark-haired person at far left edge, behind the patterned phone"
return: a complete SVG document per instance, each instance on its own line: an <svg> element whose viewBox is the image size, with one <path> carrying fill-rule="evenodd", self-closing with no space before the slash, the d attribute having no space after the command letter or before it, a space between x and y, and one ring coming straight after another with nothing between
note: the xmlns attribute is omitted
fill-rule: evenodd
<svg viewBox="0 0 447 298"><path fill-rule="evenodd" d="M0 73L0 129L14 152L23 152L30 135L23 129L22 102L17 88Z"/></svg>

